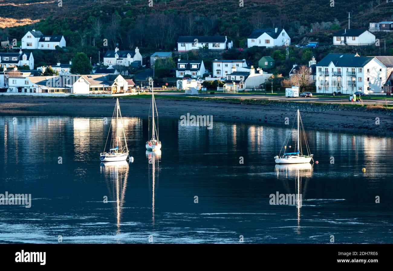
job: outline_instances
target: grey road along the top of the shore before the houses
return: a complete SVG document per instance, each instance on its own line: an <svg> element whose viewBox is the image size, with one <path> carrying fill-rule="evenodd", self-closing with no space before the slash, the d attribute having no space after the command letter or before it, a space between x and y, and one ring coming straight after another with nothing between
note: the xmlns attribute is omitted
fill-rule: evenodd
<svg viewBox="0 0 393 271"><path fill-rule="evenodd" d="M157 95L171 95L171 96L184 96L184 93L176 92L158 92ZM261 99L261 100L272 100L272 101L295 101L295 102L311 102L311 103L332 103L332 104L390 104L393 105L393 100L384 99L369 99L367 96L362 102L350 102L348 99L342 98L286 98L285 96L277 95L264 95L264 94L199 94L198 97L210 97L210 98L224 98L224 99Z"/></svg>

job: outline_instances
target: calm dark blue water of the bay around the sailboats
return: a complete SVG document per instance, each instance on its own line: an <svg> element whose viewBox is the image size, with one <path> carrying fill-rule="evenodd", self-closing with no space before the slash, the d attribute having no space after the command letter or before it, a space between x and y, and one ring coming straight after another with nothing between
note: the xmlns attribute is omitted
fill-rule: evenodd
<svg viewBox="0 0 393 271"><path fill-rule="evenodd" d="M126 118L134 162L103 166L101 118L0 117L0 193L33 198L31 208L0 205L0 242L393 242L392 138L310 130L319 164L278 168L285 128L161 118L152 155L147 125ZM276 191L301 193L303 206L270 205Z"/></svg>

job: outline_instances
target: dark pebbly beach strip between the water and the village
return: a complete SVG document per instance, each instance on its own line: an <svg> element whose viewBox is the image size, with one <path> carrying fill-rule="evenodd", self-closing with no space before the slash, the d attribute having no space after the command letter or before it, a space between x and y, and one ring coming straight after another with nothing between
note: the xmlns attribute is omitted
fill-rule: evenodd
<svg viewBox="0 0 393 271"><path fill-rule="evenodd" d="M0 115L66 115L80 117L112 116L114 98L58 98L29 96L0 96ZM122 115L147 117L151 100L145 98L119 99ZM294 118L296 108L306 129L326 130L356 134L393 136L393 116L360 110L329 110L331 104L307 103L260 105L222 101L198 101L187 99L156 99L160 116L180 119L181 115L213 115L219 121L242 122L285 126ZM321 109L324 109L322 110ZM379 118L379 125L376 124ZM214 120L213 120L214 121Z"/></svg>

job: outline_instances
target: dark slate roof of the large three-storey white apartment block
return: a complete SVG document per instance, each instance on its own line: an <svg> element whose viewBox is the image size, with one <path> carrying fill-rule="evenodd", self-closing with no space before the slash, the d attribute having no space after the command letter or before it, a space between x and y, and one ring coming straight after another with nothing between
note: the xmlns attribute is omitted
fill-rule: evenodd
<svg viewBox="0 0 393 271"><path fill-rule="evenodd" d="M329 66L333 62L338 67L364 67L374 57L355 57L354 54L329 54L324 57L316 66Z"/></svg>

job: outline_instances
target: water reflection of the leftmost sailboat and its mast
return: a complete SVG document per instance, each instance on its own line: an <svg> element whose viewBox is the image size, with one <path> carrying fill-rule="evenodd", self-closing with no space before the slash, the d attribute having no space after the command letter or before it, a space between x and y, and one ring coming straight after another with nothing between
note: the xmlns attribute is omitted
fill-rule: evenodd
<svg viewBox="0 0 393 271"><path fill-rule="evenodd" d="M116 210L117 234L120 234L121 211L124 204L125 190L129 173L129 163L125 160L101 162L101 174L104 174L108 187L108 202L112 202Z"/></svg>

